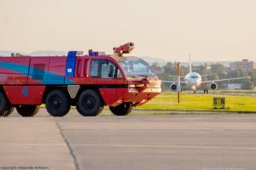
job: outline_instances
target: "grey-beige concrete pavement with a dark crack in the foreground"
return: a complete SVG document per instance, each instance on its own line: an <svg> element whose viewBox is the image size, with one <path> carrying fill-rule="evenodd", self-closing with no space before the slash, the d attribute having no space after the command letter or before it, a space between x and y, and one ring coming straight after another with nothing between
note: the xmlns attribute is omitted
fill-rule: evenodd
<svg viewBox="0 0 256 170"><path fill-rule="evenodd" d="M0 169L256 167L256 114L0 118ZM16 168L14 168L16 167Z"/></svg>

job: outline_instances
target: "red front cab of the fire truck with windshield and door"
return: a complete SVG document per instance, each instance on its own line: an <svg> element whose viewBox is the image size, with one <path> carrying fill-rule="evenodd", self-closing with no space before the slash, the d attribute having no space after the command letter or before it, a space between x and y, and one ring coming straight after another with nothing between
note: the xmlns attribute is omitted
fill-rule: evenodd
<svg viewBox="0 0 256 170"><path fill-rule="evenodd" d="M105 104L110 106L124 102L143 105L160 93L160 80L138 57L90 57L90 79L99 85Z"/></svg>

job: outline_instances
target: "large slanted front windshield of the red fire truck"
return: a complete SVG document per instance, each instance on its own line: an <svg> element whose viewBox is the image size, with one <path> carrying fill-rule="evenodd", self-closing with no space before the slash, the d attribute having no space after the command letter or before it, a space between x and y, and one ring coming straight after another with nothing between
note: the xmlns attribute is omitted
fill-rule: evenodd
<svg viewBox="0 0 256 170"><path fill-rule="evenodd" d="M146 61L140 58L121 58L119 65L125 71L126 77L153 77L154 71Z"/></svg>

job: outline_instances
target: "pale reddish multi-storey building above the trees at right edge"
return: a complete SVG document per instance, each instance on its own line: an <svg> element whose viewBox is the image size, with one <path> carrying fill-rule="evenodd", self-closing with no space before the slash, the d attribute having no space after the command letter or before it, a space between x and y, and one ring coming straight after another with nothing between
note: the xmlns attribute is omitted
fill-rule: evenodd
<svg viewBox="0 0 256 170"><path fill-rule="evenodd" d="M249 59L242 59L241 61L231 62L230 69L231 70L242 69L244 71L251 71L253 69L256 69L256 62L249 61Z"/></svg>

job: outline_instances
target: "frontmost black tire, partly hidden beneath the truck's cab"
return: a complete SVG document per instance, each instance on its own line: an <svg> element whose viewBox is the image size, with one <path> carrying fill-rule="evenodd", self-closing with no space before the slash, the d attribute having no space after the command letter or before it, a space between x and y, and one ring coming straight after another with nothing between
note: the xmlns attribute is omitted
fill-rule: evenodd
<svg viewBox="0 0 256 170"><path fill-rule="evenodd" d="M110 111L116 116L126 116L131 113L132 105L131 103L122 103L117 106L109 106Z"/></svg>

